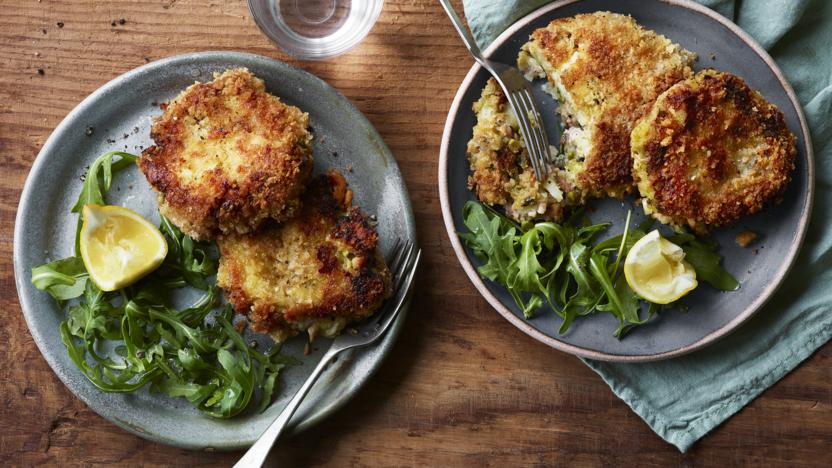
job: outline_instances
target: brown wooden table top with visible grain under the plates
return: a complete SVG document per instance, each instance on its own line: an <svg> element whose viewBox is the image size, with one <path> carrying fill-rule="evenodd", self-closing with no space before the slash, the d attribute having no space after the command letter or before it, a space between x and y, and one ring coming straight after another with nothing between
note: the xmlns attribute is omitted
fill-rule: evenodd
<svg viewBox="0 0 832 468"><path fill-rule="evenodd" d="M122 21L123 20L123 21ZM123 23L123 24L122 24ZM12 274L20 189L81 99L145 62L239 50L323 78L373 122L407 179L426 252L401 339L348 408L281 443L306 465L728 465L832 461L832 346L682 455L581 362L515 330L465 277L436 187L445 116L472 60L438 3L388 0L350 53L288 59L243 0L0 0L0 465L229 465L239 453L147 442L99 417L55 377L26 328Z"/></svg>

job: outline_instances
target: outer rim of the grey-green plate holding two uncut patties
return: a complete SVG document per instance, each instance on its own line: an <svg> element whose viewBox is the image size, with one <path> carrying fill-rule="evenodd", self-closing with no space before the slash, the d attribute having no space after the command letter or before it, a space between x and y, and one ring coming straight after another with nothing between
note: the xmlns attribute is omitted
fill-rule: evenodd
<svg viewBox="0 0 832 468"><path fill-rule="evenodd" d="M282 60L249 52L239 52L234 50L208 50L171 55L127 70L126 72L115 76L103 85L99 86L92 93L90 93L84 99L82 99L78 104L76 104L72 108L72 110L70 110L66 114L66 116L64 116L61 122L52 130L49 137L41 146L40 151L38 151L37 156L35 157L31 167L29 168L28 173L26 174L26 179L23 183L23 188L20 191L20 198L17 205L17 213L15 215L12 263L15 277L15 289L17 290L18 296L18 304L20 306L20 311L23 314L23 317L26 321L26 326L29 330L29 334L32 336L32 339L35 342L38 351L40 352L41 356L46 361L46 363L49 365L53 374L58 377L58 379L61 381L64 387L68 389L76 398L81 400L87 407L92 409L98 416L102 417L103 419L115 424L116 426L126 430L127 432L133 435L139 436L146 440L150 440L152 442L191 450L238 450L249 447L252 443L254 443L255 439L239 439L230 441L227 444L211 444L210 447L207 444L194 445L186 441L180 441L174 438L167 438L162 434L153 432L152 427L145 428L136 426L131 424L126 419L119 418L115 415L102 414L102 411L99 411L98 408L99 406L102 406L100 402L95 401L93 398L88 398L88 395L83 394L73 385L70 385L68 383L68 374L69 372L73 372L75 370L75 367L71 366L69 369L64 369L60 365L60 362L57 360L57 357L53 356L53 353L56 352L50 349L48 337L38 331L39 328L34 323L34 321L36 320L35 315L37 313L35 310L36 307L34 306L34 304L30 302L29 296L24 294L23 287L24 284L28 284L30 281L28 277L29 272L24 271L28 267L28 265L24 261L25 254L22 247L24 244L22 236L23 225L26 224L26 221L24 219L24 213L26 213L29 210L30 199L34 196L34 187L32 187L32 184L34 183L33 174L40 172L42 170L42 166L44 164L47 164L44 155L46 153L53 152L54 147L56 147L56 145L59 143L59 138L66 131L71 129L71 127L76 125L74 122L77 120L77 115L85 111L89 106L91 106L95 101L99 100L106 93L120 86L124 81L128 81L132 79L134 76L144 73L147 70L212 60L219 62L227 61L230 65L239 65L242 62L259 62L262 64L266 64L267 66L276 64L278 67L285 67L293 72L305 75L308 79L317 82L324 89L331 92L337 99L340 99L341 102L348 109L348 111L354 114L358 118L360 124L366 128L368 136L371 139L373 139L376 143L378 143L377 146L379 150L382 153L384 153L384 157L385 159L387 159L388 164L392 162L392 169L393 171L395 171L395 173L398 174L398 178L401 180L402 186L404 188L403 196L406 202L407 209L405 209L404 213L402 214L406 218L406 224L412 227L412 232L408 232L407 234L409 237L412 237L414 244L418 245L416 222L413 214L413 205L410 199L410 193L407 190L406 181L404 180L404 177L401 174L401 169L399 168L398 161L396 160L390 148L387 146L387 143L382 139L381 135L378 133L378 130L375 128L375 126L370 122L369 119L367 119L364 113L362 113L357 107L355 107L355 104L353 104L349 98L341 94L341 92L338 91L335 87L333 87L323 79L319 78L318 76L306 70L303 70L302 68L286 63ZM289 435L294 435L306 431L312 428L313 426L321 423L324 419L329 418L332 414L336 413L346 404L348 404L349 401L352 400L364 388L367 382L369 382L373 378L373 376L382 366L385 359L391 353L396 342L398 341L399 335L401 334L401 330L404 326L404 322L407 319L407 312L410 308L410 304L411 298L408 298L405 301L405 304L403 305L403 309L399 312L399 316L392 324L391 329L388 330L388 336L383 338L378 344L374 345L380 349L379 356L375 361L372 362L371 365L368 366L367 371L363 373L360 378L356 379L353 389L349 392L346 392L344 395L340 396L340 398L338 398L337 400L334 400L329 404L321 405L318 410L312 412L309 415L309 417L307 417L303 421L297 423L290 422L289 427L287 428L287 433ZM61 347L59 351L63 351L63 348ZM212 421L212 419L206 417L206 421Z"/></svg>

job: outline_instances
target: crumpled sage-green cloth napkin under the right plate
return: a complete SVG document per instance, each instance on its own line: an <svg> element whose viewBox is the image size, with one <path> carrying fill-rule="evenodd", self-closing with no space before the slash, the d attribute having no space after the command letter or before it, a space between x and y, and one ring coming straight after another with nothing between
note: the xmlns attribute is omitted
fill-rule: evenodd
<svg viewBox="0 0 832 468"><path fill-rule="evenodd" d="M656 363L584 360L663 439L685 452L832 338L832 2L700 0L777 61L803 105L815 148L814 211L791 275L727 338ZM464 0L481 46L546 0Z"/></svg>

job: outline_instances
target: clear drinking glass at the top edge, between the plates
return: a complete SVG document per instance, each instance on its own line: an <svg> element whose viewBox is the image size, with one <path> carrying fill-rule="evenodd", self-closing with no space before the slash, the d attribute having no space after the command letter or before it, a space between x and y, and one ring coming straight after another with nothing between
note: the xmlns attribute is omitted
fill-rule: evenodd
<svg viewBox="0 0 832 468"><path fill-rule="evenodd" d="M319 60L351 49L370 32L384 0L248 0L257 26L286 53Z"/></svg>

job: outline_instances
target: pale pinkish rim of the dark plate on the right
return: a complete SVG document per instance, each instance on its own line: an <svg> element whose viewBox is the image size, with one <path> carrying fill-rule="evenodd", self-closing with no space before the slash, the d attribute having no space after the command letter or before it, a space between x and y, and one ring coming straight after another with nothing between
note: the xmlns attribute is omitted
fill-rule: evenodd
<svg viewBox="0 0 832 468"><path fill-rule="evenodd" d="M497 50L498 47L500 47L504 42L506 42L509 38L511 38L514 34L516 34L520 29L522 29L529 23L553 11L561 9L567 5L579 3L582 1L585 0L559 0L544 5L532 11L526 16L523 16L519 20L515 21L505 31L503 31L499 36L497 36L497 38L494 39L494 41L483 51L483 56L490 57L494 53L494 51ZM451 131L456 121L457 115L459 114L459 109L462 104L463 95L471 86L472 81L482 69L482 66L479 63L474 62L474 64L471 66L471 69L468 71L468 73L465 75L465 78L462 80L462 83L459 85L456 94L454 95L451 108L448 111L448 116L445 120L445 127L442 132L442 144L439 149L438 188L439 203L442 208L442 219L445 224L445 229L447 231L448 237L451 241L451 246L453 247L454 253L456 254L457 260L459 260L459 263L465 270L468 279L473 283L474 287L477 289L479 294L483 298L485 298L485 300L488 301L491 307L493 307L500 315L502 315L503 318L508 320L520 331L531 336L537 341L546 344L547 346L550 346L552 348L555 348L559 351L574 354L582 358L594 359L598 361L631 363L660 361L688 354L697 349L712 344L720 338L723 338L729 335L731 332L735 331L737 328L739 328L741 324L743 324L745 321L747 321L760 309L763 308L763 306L769 301L769 299L771 299L776 290L780 287L785 278L788 276L789 272L795 264L795 261L797 260L797 254L799 253L800 248L803 246L803 242L805 240L806 233L809 227L809 222L811 220L812 205L814 202L815 162L814 150L812 148L812 139L809 133L809 127L806 122L806 117L803 114L803 107L800 105L800 101L798 101L794 89L792 88L791 84L789 84L789 82L786 80L785 76L783 75L783 72L777 66L774 59L772 59L768 52L765 49L763 49L763 47L760 46L757 43L757 41L754 40L742 28L740 28L734 22L730 21L729 19L725 18L724 16L720 15L716 11L706 6L700 5L691 0L656 1L666 3L675 7L686 8L688 10L692 10L696 13L709 17L710 19L716 21L717 23L721 24L723 27L731 31L735 36L737 36L741 41L743 41L754 53L756 53L763 60L766 66L768 66L768 68L774 73L775 77L777 78L777 81L780 83L780 86L786 92L786 96L789 98L792 107L794 107L798 117L798 121L800 123L801 137L806 148L808 186L806 189L806 194L803 197L804 203L802 213L800 214L800 225L798 226L796 235L792 238L793 242L791 243L789 251L787 252L786 258L788 260L780 265L775 277L773 278L774 281L770 282L769 285L765 289L763 289L762 293L754 300L754 302L749 304L749 306L747 306L740 314L738 314L732 320L730 320L720 328L712 331L711 333L699 338L693 343L670 351L655 354L625 355L602 352L566 343L564 341L550 337L538 331L537 329L532 327L528 322L514 315L514 313L511 310L509 310L508 307L506 307L502 302L500 302L499 299L497 299L496 296L494 296L494 294L491 293L491 291L486 286L485 281L479 276L479 274L476 271L476 268L471 263L470 259L468 258L468 255L465 253L465 249L462 245L462 242L459 240L459 237L456 234L456 228L454 226L454 216L451 212L448 195L448 148L450 146Z"/></svg>

